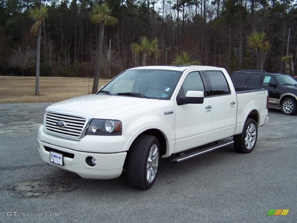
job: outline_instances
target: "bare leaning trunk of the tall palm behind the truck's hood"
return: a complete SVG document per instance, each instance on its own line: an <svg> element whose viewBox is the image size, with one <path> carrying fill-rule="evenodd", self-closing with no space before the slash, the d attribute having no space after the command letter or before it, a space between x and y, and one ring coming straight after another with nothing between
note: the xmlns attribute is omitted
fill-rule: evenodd
<svg viewBox="0 0 297 223"><path fill-rule="evenodd" d="M97 48L97 55L96 55L94 82L93 82L93 88L92 88L93 94L98 91L99 76L100 76L100 55L102 54L104 28L105 28L104 22L101 22L100 29L99 29L99 37L98 37L98 48Z"/></svg>

